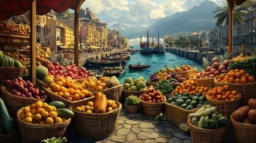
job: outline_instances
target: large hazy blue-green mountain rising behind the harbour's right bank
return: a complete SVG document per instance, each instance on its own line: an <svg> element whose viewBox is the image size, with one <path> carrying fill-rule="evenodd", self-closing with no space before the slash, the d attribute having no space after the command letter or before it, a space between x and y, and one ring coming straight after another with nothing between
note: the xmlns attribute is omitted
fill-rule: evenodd
<svg viewBox="0 0 256 143"><path fill-rule="evenodd" d="M149 35L155 36L159 32L161 37L171 35L190 35L192 32L198 32L206 29L214 29L215 8L218 7L215 2L203 1L200 5L191 8L189 11L178 12L171 16L156 21L155 24L146 28ZM146 35L146 30L141 32L130 33L128 38L137 38L141 34Z"/></svg>

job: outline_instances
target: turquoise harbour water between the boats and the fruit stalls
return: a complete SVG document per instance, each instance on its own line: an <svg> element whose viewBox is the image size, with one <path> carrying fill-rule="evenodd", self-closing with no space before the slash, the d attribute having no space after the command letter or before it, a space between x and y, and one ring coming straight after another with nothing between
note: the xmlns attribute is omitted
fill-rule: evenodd
<svg viewBox="0 0 256 143"><path fill-rule="evenodd" d="M139 49L139 46L133 46L134 49ZM128 65L129 64L138 64L141 65L150 65L151 67L144 70L129 70ZM127 77L131 77L132 79L136 79L139 76L144 77L145 80L147 80L151 74L153 74L155 71L165 68L164 65L174 69L174 64L176 64L178 67L180 67L182 64L189 64L189 65L195 65L198 66L199 69L202 69L202 63L199 61L195 61L190 58L181 57L179 55L172 54L170 52L166 52L165 54L150 54L150 55L142 55L140 54L140 51L135 52L131 59L127 61L126 67L127 70L125 70L125 73L119 77L119 81L121 83L124 83L124 80Z"/></svg>

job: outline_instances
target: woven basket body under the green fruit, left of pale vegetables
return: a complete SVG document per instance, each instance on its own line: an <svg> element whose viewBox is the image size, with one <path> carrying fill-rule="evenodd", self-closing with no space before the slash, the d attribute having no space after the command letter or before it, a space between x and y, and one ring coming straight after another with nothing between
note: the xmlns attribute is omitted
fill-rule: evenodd
<svg viewBox="0 0 256 143"><path fill-rule="evenodd" d="M195 113L199 110L199 108L186 110L184 108L178 107L177 105L172 105L168 102L165 102L165 117L168 122L179 126L181 123L186 123L187 116L189 116L190 113Z"/></svg>

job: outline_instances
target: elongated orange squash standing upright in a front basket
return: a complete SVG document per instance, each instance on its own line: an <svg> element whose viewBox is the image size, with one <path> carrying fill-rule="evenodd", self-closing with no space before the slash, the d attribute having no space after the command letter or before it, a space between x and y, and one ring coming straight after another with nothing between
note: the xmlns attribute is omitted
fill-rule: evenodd
<svg viewBox="0 0 256 143"><path fill-rule="evenodd" d="M95 95L94 111L95 113L105 113L107 109L107 98L102 92Z"/></svg>

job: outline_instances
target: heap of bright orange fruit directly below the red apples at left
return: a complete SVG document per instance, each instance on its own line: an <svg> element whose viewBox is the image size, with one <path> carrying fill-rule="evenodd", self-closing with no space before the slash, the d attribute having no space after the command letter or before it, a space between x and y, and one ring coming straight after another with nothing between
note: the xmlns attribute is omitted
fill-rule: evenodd
<svg viewBox="0 0 256 143"><path fill-rule="evenodd" d="M45 77L48 78L48 77ZM84 89L80 83L71 77L58 77L54 82L48 81L48 90L69 101L78 101L92 96L92 92Z"/></svg>

